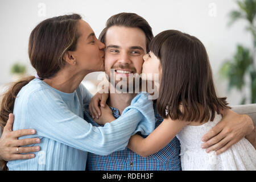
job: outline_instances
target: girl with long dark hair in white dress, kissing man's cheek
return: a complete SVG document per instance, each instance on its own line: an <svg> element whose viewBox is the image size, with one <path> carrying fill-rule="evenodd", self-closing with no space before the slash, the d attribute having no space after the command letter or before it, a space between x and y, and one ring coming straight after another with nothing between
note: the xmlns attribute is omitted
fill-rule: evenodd
<svg viewBox="0 0 256 182"><path fill-rule="evenodd" d="M177 135L183 170L256 170L255 146L245 138L220 155L201 148L201 137L230 107L226 98L216 95L207 51L199 39L164 31L155 36L143 59L143 73L160 75L157 109L164 121L147 138L131 137L127 147L148 156Z"/></svg>

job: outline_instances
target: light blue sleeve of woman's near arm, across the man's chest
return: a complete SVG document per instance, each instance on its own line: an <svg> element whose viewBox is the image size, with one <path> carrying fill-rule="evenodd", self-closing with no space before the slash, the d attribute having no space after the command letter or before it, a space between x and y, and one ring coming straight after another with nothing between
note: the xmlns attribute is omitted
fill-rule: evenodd
<svg viewBox="0 0 256 182"><path fill-rule="evenodd" d="M138 94L134 98L137 102L133 102L122 117L104 127L94 127L72 113L60 96L41 89L31 93L24 108L28 118L25 126L35 129L39 136L79 150L108 155L127 146L138 123L143 126L154 123L152 101L146 98L147 94ZM147 129L152 130L152 126Z"/></svg>

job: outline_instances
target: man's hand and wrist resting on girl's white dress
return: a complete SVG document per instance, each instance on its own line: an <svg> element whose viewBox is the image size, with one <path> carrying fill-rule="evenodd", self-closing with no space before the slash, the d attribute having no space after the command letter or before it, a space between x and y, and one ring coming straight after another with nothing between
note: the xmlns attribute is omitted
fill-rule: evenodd
<svg viewBox="0 0 256 182"><path fill-rule="evenodd" d="M222 120L203 136L202 148L207 152L216 151L216 154L221 154L243 137L251 136L253 131L254 123L248 115L226 109Z"/></svg>

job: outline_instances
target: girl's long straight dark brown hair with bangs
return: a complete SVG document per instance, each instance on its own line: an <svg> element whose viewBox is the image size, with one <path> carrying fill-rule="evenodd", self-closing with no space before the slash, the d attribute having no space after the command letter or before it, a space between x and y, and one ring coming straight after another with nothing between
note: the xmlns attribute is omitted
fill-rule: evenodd
<svg viewBox="0 0 256 182"><path fill-rule="evenodd" d="M213 121L215 111L230 109L226 97L216 95L207 51L199 39L167 30L156 35L149 48L162 68L156 107L163 118Z"/></svg>

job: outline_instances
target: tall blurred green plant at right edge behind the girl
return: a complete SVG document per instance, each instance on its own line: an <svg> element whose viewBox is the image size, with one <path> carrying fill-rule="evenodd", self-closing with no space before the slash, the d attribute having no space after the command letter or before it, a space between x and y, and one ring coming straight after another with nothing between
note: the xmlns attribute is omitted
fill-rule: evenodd
<svg viewBox="0 0 256 182"><path fill-rule="evenodd" d="M256 0L241 0L237 1L238 10L233 10L229 13L232 26L237 20L246 20L246 31L249 31L253 38L253 52L249 48L237 45L237 52L232 60L225 61L220 69L220 75L229 80L228 90L236 88L242 92L244 86L250 87L251 96L243 94L241 104L256 103L256 67L255 67L255 51L256 51ZM250 85L246 85L245 77L250 77Z"/></svg>

